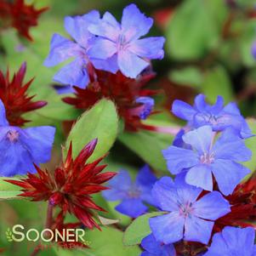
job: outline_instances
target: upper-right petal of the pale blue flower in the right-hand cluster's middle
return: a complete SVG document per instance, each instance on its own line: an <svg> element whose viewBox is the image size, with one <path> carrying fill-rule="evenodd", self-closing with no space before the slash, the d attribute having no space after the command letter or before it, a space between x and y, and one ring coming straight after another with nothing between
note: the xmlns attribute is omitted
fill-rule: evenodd
<svg viewBox="0 0 256 256"><path fill-rule="evenodd" d="M217 139L213 146L214 157L216 159L229 159L237 162L248 161L252 157L252 152L247 148L244 140L232 133L229 128Z"/></svg>

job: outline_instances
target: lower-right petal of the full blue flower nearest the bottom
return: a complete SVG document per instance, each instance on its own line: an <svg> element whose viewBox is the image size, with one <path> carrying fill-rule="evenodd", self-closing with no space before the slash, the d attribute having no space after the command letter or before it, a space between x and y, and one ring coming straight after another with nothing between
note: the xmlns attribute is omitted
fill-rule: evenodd
<svg viewBox="0 0 256 256"><path fill-rule="evenodd" d="M208 244L214 223L212 221L189 215L185 219L185 241Z"/></svg>

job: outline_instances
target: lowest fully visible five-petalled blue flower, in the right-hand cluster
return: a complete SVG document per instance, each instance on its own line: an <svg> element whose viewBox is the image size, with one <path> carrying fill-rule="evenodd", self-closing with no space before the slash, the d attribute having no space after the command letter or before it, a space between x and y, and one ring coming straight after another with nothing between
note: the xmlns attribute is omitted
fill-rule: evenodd
<svg viewBox="0 0 256 256"><path fill-rule="evenodd" d="M181 239L207 244L214 220L230 212L230 204L218 192L200 196L202 189L185 183L184 175L175 180L163 177L156 182L152 196L157 206L167 214L149 220L156 241L165 244Z"/></svg>

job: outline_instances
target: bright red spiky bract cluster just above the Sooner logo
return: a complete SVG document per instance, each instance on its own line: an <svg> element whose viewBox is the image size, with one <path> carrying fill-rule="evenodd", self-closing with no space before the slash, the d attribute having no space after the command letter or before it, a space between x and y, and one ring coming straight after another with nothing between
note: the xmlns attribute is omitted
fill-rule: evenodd
<svg viewBox="0 0 256 256"><path fill-rule="evenodd" d="M97 218L96 211L105 210L93 202L91 195L106 190L107 187L102 184L116 173L101 173L106 165L98 164L104 156L87 163L96 144L97 139L88 143L75 160L70 145L65 161L54 170L54 174L36 166L38 174L28 174L27 179L9 182L23 188L20 196L31 197L32 201L48 201L53 206L59 206L63 213L74 214L89 229L100 229L94 217Z"/></svg>

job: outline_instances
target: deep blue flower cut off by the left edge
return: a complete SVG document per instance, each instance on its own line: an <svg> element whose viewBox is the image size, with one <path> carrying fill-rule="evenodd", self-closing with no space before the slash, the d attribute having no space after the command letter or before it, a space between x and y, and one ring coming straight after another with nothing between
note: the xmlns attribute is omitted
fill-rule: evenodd
<svg viewBox="0 0 256 256"><path fill-rule="evenodd" d="M55 128L10 126L0 100L0 176L35 173L33 163L48 162L54 143Z"/></svg>

